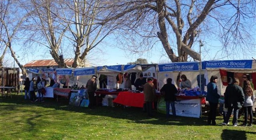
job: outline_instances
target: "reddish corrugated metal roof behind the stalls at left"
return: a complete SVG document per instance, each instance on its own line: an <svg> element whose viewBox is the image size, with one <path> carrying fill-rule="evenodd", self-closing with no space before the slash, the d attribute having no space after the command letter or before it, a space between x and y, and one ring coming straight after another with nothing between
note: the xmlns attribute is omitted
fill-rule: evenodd
<svg viewBox="0 0 256 140"><path fill-rule="evenodd" d="M74 59L73 58L64 59L64 62L68 66L72 66ZM29 63L24 65L24 67L42 67L42 66L58 66L58 64L54 61L54 59L48 59L48 60L32 60Z"/></svg>

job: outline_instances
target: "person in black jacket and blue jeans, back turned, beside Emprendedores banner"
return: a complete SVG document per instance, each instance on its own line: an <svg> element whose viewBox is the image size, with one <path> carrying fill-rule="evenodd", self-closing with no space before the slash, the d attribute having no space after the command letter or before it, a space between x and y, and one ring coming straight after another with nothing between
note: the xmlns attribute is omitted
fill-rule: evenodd
<svg viewBox="0 0 256 140"><path fill-rule="evenodd" d="M172 107L172 114L173 116L176 116L176 109L175 109L175 101L176 96L175 94L178 92L176 87L172 84L172 79L167 79L167 84L165 84L160 92L164 92L164 101L166 105L166 117L170 117L170 104Z"/></svg>

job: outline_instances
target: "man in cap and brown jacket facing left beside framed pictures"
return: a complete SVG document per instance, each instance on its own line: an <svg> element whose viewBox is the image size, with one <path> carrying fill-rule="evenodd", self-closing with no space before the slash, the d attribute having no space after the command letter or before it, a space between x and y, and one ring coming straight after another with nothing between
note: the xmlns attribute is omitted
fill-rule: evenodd
<svg viewBox="0 0 256 140"><path fill-rule="evenodd" d="M96 82L97 76L93 75L91 79L87 81L86 88L87 92L89 94L89 108L94 107L94 92L97 89L97 82Z"/></svg>

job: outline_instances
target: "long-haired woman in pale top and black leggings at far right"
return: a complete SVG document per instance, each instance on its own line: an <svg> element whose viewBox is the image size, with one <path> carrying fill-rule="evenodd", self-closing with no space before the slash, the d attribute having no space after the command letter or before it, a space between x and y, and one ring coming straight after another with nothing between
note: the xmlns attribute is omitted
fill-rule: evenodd
<svg viewBox="0 0 256 140"><path fill-rule="evenodd" d="M245 111L245 122L242 124L242 126L252 126L252 119L253 119L252 105L254 101L254 94L253 94L253 89L251 87L251 83L249 80L244 81L243 91L245 94L245 103L243 105L244 111ZM250 123L247 125L248 113L250 115Z"/></svg>

